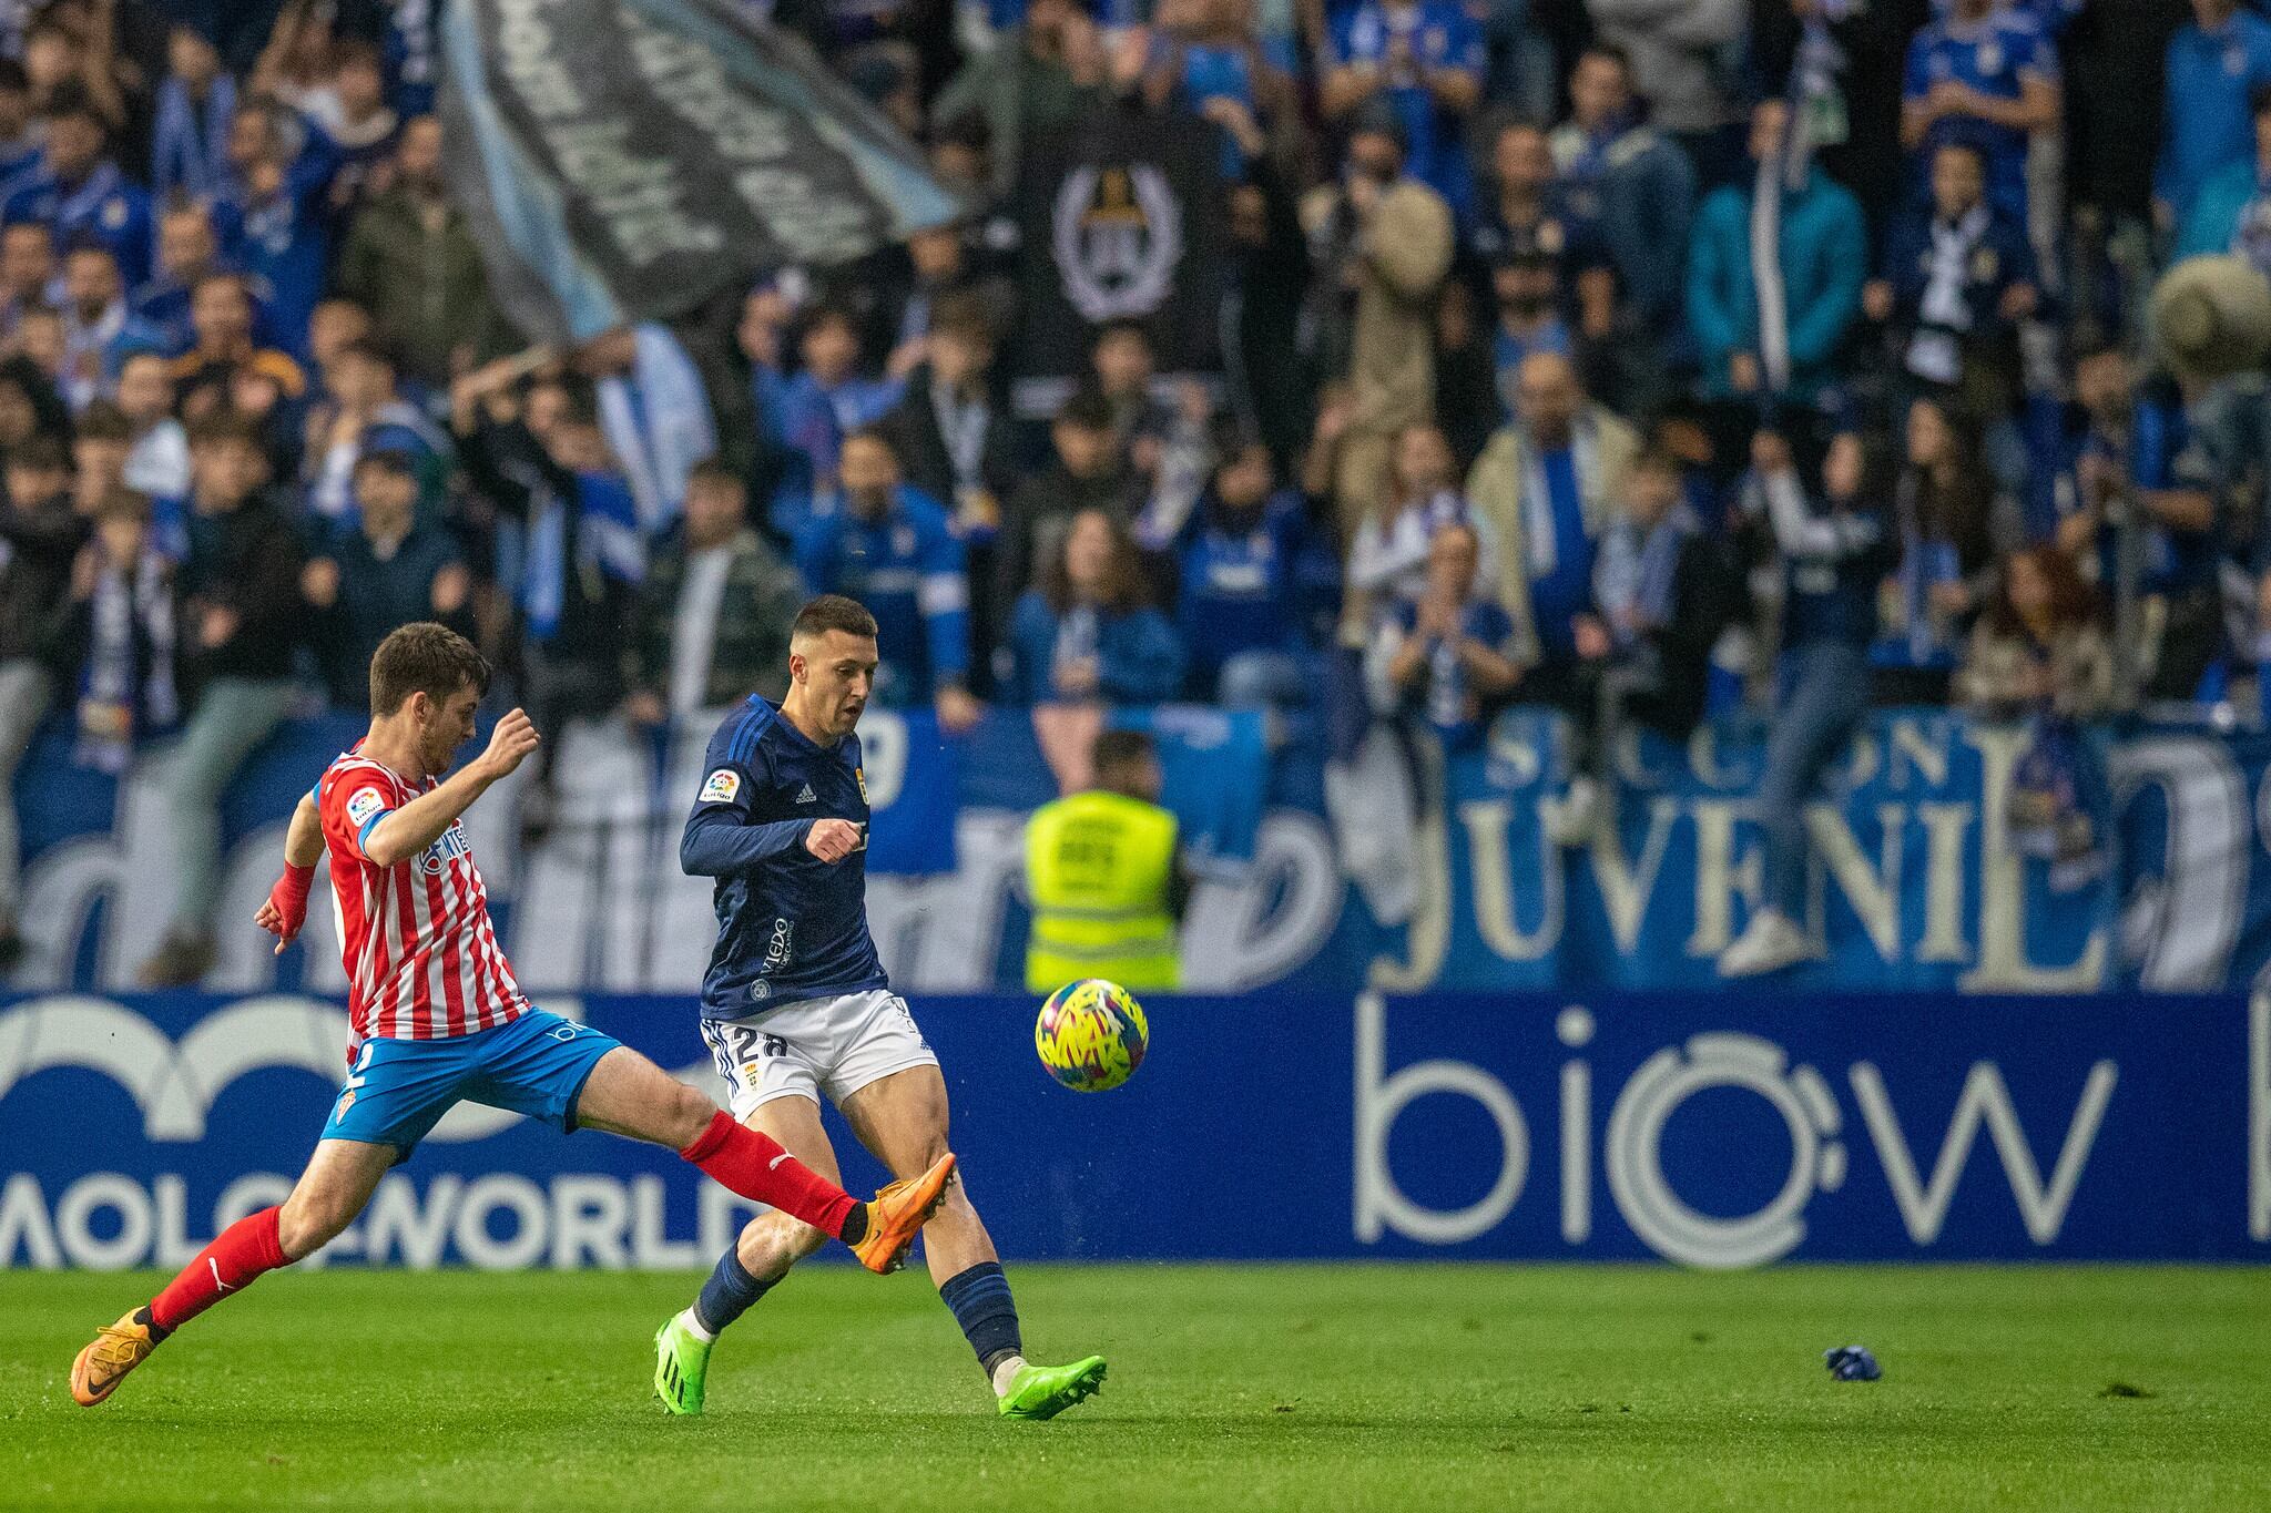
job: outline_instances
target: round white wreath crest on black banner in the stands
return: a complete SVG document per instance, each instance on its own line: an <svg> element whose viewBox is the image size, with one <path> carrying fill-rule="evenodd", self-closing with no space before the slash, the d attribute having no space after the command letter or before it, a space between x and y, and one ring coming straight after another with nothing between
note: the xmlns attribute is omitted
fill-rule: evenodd
<svg viewBox="0 0 2271 1513"><path fill-rule="evenodd" d="M1051 243L1083 320L1151 315L1183 261L1183 206L1151 163L1079 163L1056 191Z"/></svg>

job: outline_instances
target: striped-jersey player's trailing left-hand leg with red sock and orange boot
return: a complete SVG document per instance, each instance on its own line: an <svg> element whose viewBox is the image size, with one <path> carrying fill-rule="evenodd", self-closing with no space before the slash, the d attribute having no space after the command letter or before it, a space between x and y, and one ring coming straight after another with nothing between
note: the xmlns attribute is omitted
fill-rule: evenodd
<svg viewBox="0 0 2271 1513"><path fill-rule="evenodd" d="M82 1409L107 1402L127 1372L150 1359L175 1329L266 1273L320 1250L370 1202L395 1164L393 1146L318 1141L282 1207L248 1214L175 1275L148 1304L127 1311L70 1363L70 1395Z"/></svg>

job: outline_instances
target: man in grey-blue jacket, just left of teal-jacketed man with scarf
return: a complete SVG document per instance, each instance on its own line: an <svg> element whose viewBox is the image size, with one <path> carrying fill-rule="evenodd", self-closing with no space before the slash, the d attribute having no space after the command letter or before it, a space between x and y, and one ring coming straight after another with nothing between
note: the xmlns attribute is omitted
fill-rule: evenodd
<svg viewBox="0 0 2271 1513"><path fill-rule="evenodd" d="M1687 154L1640 120L1624 52L1585 50L1569 75L1569 122L1549 141L1562 204L1599 227L1642 331L1669 340L1681 324L1696 175Z"/></svg>

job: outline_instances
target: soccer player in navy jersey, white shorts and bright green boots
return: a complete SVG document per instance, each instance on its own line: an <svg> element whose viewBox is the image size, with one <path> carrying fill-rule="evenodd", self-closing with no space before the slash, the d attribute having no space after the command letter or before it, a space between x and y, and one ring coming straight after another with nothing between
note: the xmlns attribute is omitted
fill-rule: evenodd
<svg viewBox="0 0 2271 1513"><path fill-rule="evenodd" d="M883 1166L920 1173L947 1150L947 1082L890 991L868 935L868 785L861 710L874 692L877 626L822 594L788 640L788 696L754 696L711 737L679 842L688 873L718 880L718 948L702 980L702 1039L734 1118L799 1161L836 1173L820 1127L827 1093ZM654 1332L654 1395L699 1413L718 1332L820 1250L820 1229L754 1218L702 1295ZM954 1313L1004 1418L1054 1418L1104 1384L1104 1359L1031 1366L992 1239L961 1182L922 1229L938 1298Z"/></svg>

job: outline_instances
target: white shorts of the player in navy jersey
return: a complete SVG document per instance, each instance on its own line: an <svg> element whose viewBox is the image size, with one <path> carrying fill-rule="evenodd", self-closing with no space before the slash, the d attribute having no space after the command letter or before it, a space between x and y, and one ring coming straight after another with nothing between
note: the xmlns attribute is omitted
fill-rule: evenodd
<svg viewBox="0 0 2271 1513"><path fill-rule="evenodd" d="M704 1018L702 1041L727 1084L727 1107L747 1121L774 1098L829 1102L908 1066L938 1066L906 1000L888 989L804 998L747 1018Z"/></svg>

